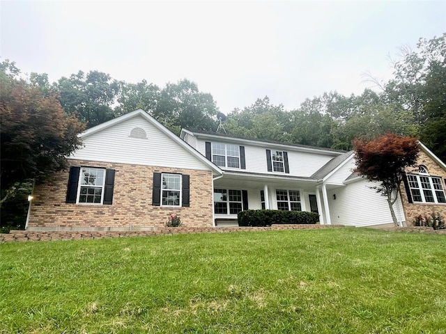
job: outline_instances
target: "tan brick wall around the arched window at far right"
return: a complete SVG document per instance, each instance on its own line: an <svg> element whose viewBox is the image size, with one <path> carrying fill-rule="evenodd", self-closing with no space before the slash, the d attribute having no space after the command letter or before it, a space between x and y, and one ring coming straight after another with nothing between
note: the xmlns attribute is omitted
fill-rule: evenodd
<svg viewBox="0 0 446 334"><path fill-rule="evenodd" d="M418 173L418 166L426 166L429 175L441 177L443 189L446 188L445 179L446 171L436 164L424 151L420 152L417 165L408 168L407 173ZM446 218L446 204L430 204L430 203L409 203L404 185L401 186L401 200L403 202L404 215L406 216L406 224L413 225L413 221L420 214L422 216L431 216L432 212L438 212L443 218Z"/></svg>

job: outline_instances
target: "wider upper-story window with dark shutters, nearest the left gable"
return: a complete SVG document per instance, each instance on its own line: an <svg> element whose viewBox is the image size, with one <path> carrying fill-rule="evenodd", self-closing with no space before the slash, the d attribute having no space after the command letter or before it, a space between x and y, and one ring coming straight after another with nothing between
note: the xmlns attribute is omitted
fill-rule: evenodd
<svg viewBox="0 0 446 334"><path fill-rule="evenodd" d="M206 158L220 167L245 169L245 146L206 141Z"/></svg>

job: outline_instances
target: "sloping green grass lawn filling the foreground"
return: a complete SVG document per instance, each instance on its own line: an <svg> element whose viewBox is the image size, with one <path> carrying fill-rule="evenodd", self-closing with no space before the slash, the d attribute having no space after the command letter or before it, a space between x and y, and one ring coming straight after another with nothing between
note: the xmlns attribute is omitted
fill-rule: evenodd
<svg viewBox="0 0 446 334"><path fill-rule="evenodd" d="M0 333L446 333L446 235L0 244Z"/></svg>

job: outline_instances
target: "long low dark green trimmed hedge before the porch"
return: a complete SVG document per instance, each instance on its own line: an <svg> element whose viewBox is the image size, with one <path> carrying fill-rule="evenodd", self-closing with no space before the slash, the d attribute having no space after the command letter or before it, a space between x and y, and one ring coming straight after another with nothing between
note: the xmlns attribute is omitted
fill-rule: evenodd
<svg viewBox="0 0 446 334"><path fill-rule="evenodd" d="M238 212L239 226L271 226L273 224L316 224L319 215L305 211L246 210Z"/></svg>

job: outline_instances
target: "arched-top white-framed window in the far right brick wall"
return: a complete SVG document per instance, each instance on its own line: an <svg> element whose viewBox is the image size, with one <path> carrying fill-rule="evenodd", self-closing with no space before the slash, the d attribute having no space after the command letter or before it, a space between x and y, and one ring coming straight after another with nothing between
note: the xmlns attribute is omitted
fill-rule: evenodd
<svg viewBox="0 0 446 334"><path fill-rule="evenodd" d="M440 177L429 176L425 166L420 166L420 175L407 175L410 194L414 202L446 203L445 189Z"/></svg>

